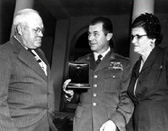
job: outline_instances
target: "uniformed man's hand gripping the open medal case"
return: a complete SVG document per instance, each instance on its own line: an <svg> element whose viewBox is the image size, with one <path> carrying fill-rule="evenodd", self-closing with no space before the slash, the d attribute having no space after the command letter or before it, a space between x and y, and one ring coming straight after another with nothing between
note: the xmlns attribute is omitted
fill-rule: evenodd
<svg viewBox="0 0 168 131"><path fill-rule="evenodd" d="M71 82L70 79L66 80L63 84L63 91L65 92L65 98L67 99L67 101L71 101L73 95L74 95L74 91L73 90L67 90L67 85L69 84L69 82Z"/></svg>

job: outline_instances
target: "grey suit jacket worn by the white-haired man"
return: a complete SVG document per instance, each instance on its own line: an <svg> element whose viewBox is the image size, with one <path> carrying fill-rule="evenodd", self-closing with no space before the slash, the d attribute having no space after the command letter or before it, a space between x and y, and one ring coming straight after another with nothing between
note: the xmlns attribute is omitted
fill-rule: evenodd
<svg viewBox="0 0 168 131"><path fill-rule="evenodd" d="M0 131L56 130L49 65L42 50L36 52L47 64L48 76L14 37L0 46Z"/></svg>

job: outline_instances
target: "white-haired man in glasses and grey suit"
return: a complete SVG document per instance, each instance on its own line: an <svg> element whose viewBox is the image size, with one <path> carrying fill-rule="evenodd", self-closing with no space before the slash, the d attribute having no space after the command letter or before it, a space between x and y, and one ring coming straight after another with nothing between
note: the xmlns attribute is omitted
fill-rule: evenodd
<svg viewBox="0 0 168 131"><path fill-rule="evenodd" d="M50 69L41 46L39 13L14 17L14 36L0 46L0 131L56 131Z"/></svg>

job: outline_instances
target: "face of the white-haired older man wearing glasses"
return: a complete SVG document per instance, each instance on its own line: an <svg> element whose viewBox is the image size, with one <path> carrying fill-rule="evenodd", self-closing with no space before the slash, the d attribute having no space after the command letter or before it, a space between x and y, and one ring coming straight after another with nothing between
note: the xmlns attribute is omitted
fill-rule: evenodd
<svg viewBox="0 0 168 131"><path fill-rule="evenodd" d="M21 35L23 46L36 49L41 46L43 37L43 22L40 16L32 16L26 24L20 25L19 34Z"/></svg>

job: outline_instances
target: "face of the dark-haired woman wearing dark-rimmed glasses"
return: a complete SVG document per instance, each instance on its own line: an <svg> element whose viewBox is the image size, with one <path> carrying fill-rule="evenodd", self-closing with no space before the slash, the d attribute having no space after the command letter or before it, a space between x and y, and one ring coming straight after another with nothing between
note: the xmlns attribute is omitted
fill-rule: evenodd
<svg viewBox="0 0 168 131"><path fill-rule="evenodd" d="M131 31L131 41L134 44L134 51L140 55L148 54L151 50L152 39L148 38L142 27L135 27Z"/></svg>

